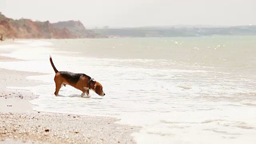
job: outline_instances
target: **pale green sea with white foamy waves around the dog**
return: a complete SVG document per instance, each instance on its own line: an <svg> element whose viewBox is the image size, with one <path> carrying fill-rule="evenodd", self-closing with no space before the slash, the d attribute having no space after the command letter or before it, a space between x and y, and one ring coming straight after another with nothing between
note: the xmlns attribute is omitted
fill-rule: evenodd
<svg viewBox="0 0 256 144"><path fill-rule="evenodd" d="M138 144L255 144L256 36L15 40L1 44L0 68L42 72L27 79L33 110L108 116L140 126ZM54 70L84 73L105 96L62 87Z"/></svg>

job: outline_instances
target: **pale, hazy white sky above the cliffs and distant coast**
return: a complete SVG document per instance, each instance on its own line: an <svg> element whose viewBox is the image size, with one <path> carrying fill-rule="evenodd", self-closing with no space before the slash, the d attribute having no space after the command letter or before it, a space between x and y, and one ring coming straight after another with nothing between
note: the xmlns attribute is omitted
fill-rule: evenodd
<svg viewBox="0 0 256 144"><path fill-rule="evenodd" d="M10 18L94 26L256 25L256 0L0 0Z"/></svg>

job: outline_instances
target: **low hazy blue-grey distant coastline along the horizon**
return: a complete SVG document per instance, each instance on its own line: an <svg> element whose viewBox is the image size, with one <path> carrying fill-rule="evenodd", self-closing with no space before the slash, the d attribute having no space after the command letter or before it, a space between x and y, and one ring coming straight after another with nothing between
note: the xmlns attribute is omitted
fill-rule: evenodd
<svg viewBox="0 0 256 144"><path fill-rule="evenodd" d="M198 37L198 36L254 36L256 26L223 27L137 27L137 28L94 28L92 32L113 37Z"/></svg>

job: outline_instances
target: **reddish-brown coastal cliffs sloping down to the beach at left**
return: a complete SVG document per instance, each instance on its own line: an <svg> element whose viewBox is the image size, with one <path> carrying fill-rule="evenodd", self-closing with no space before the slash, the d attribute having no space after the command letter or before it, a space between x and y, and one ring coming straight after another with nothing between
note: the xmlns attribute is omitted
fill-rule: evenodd
<svg viewBox="0 0 256 144"><path fill-rule="evenodd" d="M13 20L0 12L0 34L6 38L95 38L81 22L67 21L56 24L34 22L29 19Z"/></svg>

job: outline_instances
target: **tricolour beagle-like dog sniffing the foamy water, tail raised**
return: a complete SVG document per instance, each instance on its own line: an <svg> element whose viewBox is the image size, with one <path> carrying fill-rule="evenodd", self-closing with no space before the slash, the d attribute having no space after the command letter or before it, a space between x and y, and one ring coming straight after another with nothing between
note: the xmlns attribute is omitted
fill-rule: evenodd
<svg viewBox="0 0 256 144"><path fill-rule="evenodd" d="M50 55L50 63L55 72L54 82L56 85L56 90L54 92L55 96L58 95L59 90L62 86L66 84L82 91L81 97L86 94L86 98L90 98L89 90L94 91L99 96L105 96L103 92L103 87L99 82L96 82L90 76L86 74L76 74L73 72L61 71L59 72L52 62L52 56Z"/></svg>

